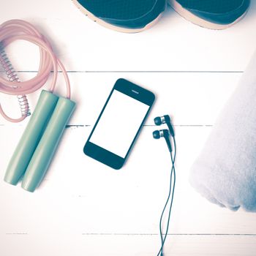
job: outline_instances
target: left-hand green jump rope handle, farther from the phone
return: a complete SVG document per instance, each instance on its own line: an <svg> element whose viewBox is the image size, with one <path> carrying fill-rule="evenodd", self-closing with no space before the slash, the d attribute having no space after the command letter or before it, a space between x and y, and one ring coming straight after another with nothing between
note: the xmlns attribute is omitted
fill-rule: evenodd
<svg viewBox="0 0 256 256"><path fill-rule="evenodd" d="M42 137L42 133L56 107L58 99L59 97L48 91L41 92L34 113L31 115L29 123L10 159L4 181L12 185L18 184L21 176L26 171L26 167L29 165L30 159Z"/></svg>

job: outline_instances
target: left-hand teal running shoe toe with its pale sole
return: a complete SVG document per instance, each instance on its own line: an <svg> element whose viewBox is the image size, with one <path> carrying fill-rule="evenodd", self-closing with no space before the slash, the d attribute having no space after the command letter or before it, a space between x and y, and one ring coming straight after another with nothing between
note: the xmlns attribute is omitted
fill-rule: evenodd
<svg viewBox="0 0 256 256"><path fill-rule="evenodd" d="M73 0L91 20L121 32L151 28L165 11L166 0Z"/></svg>

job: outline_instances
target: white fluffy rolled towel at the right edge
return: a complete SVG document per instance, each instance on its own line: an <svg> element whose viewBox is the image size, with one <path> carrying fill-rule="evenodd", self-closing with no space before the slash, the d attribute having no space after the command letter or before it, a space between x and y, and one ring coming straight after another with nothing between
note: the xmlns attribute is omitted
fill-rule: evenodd
<svg viewBox="0 0 256 256"><path fill-rule="evenodd" d="M256 53L192 165L189 181L212 203L256 211Z"/></svg>

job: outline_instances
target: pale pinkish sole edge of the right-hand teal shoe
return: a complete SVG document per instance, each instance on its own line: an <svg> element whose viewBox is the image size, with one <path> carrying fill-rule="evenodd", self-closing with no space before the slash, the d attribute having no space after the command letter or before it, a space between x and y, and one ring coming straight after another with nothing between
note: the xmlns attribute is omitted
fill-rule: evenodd
<svg viewBox="0 0 256 256"><path fill-rule="evenodd" d="M238 23L239 20L244 18L246 15L246 12L244 12L243 15L241 15L238 19L233 21L233 23L230 24L217 24L217 23L211 23L210 21L203 20L202 18L197 17L196 15L192 14L192 12L189 12L184 7L181 6L176 0L168 0L168 4L175 10L181 17L185 18L186 20L189 20L190 22L194 23L195 25L201 26L206 29L214 29L214 30L222 30L227 29L230 26L233 26L234 24Z"/></svg>

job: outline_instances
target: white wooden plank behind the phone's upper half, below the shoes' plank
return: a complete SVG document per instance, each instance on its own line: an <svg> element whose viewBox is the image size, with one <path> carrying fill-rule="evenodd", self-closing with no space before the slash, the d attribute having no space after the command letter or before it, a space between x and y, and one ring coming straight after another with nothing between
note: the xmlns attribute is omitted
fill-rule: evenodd
<svg viewBox="0 0 256 256"><path fill-rule="evenodd" d="M154 124L155 116L169 113L173 116L175 125L213 125L230 94L236 89L241 75L241 73L223 72L132 74L72 72L69 74L72 99L77 102L77 108L69 124L94 124L113 84L118 78L127 78L154 91L157 96L146 124ZM64 81L60 77L56 93L65 95L65 89ZM39 91L29 95L31 110L37 102ZM7 113L12 116L20 115L15 97L1 94L0 99ZM12 125L1 116L0 124Z"/></svg>

